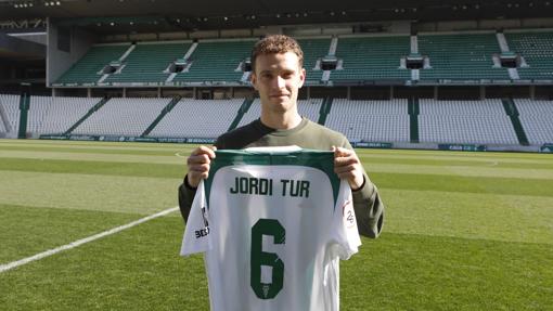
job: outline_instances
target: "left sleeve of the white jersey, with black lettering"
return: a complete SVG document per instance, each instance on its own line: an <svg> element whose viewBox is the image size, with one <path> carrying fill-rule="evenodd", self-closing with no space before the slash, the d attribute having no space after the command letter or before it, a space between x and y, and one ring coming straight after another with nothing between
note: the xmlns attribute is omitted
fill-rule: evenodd
<svg viewBox="0 0 553 311"><path fill-rule="evenodd" d="M209 210L207 208L204 181L197 186L189 220L182 237L181 256L205 252L211 248L209 238Z"/></svg>

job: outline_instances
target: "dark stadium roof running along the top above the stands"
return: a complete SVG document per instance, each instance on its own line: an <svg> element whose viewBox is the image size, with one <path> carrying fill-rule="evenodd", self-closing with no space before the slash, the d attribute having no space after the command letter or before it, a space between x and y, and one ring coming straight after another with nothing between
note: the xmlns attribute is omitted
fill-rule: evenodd
<svg viewBox="0 0 553 311"><path fill-rule="evenodd" d="M53 17L97 33L368 21L553 16L553 0L0 0L0 21Z"/></svg>

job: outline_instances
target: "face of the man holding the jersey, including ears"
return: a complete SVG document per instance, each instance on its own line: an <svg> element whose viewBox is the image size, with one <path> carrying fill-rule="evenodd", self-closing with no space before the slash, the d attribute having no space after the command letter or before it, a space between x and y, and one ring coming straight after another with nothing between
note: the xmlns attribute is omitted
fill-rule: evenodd
<svg viewBox="0 0 553 311"><path fill-rule="evenodd" d="M261 54L256 57L252 85L259 92L261 109L285 113L296 107L298 89L306 79L294 52Z"/></svg>

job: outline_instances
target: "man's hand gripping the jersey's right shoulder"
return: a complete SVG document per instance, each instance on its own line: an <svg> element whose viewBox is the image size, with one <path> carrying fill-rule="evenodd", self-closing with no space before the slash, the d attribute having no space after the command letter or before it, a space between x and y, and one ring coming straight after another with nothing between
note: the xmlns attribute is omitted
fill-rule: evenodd
<svg viewBox="0 0 553 311"><path fill-rule="evenodd" d="M351 190L359 190L363 185L363 167L357 157L356 152L333 146L334 152L334 172L339 179L348 181Z"/></svg>

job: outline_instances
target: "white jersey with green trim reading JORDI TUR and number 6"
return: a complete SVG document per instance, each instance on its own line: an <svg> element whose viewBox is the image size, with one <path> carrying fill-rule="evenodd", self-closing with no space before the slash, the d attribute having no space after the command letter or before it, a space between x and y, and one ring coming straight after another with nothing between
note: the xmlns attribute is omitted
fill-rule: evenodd
<svg viewBox="0 0 553 311"><path fill-rule="evenodd" d="M361 245L332 152L217 151L181 255L205 252L213 311L339 310L338 263Z"/></svg>

